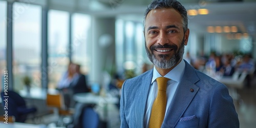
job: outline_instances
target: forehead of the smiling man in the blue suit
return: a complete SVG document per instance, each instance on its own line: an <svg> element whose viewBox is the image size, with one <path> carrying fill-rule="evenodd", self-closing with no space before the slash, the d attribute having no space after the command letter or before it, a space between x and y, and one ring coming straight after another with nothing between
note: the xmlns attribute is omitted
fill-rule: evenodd
<svg viewBox="0 0 256 128"><path fill-rule="evenodd" d="M182 27L182 17L180 12L173 8L153 9L148 12L145 18L145 27L159 25L176 25Z"/></svg>

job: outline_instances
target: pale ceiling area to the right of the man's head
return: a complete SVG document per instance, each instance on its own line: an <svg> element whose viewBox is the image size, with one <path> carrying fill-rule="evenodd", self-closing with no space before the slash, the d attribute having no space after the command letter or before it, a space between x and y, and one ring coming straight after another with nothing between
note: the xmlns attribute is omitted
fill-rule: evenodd
<svg viewBox="0 0 256 128"><path fill-rule="evenodd" d="M209 14L189 18L189 27L205 32L207 26L237 26L240 33L256 35L256 2L212 3L204 8Z"/></svg>

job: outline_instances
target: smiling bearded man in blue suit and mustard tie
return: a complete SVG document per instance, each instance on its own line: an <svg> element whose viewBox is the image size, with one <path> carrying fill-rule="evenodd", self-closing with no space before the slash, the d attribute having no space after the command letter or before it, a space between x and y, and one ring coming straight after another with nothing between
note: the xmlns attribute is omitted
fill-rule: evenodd
<svg viewBox="0 0 256 128"><path fill-rule="evenodd" d="M179 2L153 1L145 11L144 36L154 68L123 83L121 127L239 127L224 84L182 59L189 29L187 12ZM164 108L164 100L158 99L158 77L168 79Z"/></svg>

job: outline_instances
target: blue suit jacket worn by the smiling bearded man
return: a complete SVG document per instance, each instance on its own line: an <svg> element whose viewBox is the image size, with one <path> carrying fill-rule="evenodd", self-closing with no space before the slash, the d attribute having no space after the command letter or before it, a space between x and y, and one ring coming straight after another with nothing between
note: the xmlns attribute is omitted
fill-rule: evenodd
<svg viewBox="0 0 256 128"><path fill-rule="evenodd" d="M195 70L185 71L161 127L239 127L226 86ZM121 127L142 128L153 70L127 79L120 99Z"/></svg>

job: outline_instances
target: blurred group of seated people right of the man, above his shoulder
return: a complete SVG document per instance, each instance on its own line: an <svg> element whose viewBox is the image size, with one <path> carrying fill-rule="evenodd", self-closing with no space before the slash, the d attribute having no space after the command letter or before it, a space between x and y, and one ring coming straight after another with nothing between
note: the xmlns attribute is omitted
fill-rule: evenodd
<svg viewBox="0 0 256 128"><path fill-rule="evenodd" d="M234 56L234 54L216 55L212 52L209 57L191 59L191 65L196 69L207 72L212 71L221 76L232 76L234 72L246 72L246 86L250 87L252 77L256 76L255 62L250 54Z"/></svg>

